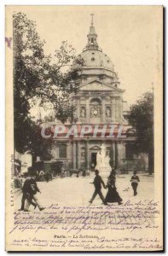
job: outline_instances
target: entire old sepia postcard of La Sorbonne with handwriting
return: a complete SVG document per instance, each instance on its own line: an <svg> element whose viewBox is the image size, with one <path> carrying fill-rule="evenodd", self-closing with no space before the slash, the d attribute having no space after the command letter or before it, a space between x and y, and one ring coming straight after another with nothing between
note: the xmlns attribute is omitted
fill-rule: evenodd
<svg viewBox="0 0 168 256"><path fill-rule="evenodd" d="M163 6L5 22L6 251L163 251Z"/></svg>

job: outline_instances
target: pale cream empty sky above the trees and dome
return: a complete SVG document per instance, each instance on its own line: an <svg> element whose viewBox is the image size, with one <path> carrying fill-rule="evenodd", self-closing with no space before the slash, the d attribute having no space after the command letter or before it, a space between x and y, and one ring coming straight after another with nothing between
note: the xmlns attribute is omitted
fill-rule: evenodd
<svg viewBox="0 0 168 256"><path fill-rule="evenodd" d="M162 58L161 8L152 6L13 6L36 21L45 52L67 40L80 54L94 13L97 42L113 62L123 98L130 104L159 86ZM161 84L160 84L161 86Z"/></svg>

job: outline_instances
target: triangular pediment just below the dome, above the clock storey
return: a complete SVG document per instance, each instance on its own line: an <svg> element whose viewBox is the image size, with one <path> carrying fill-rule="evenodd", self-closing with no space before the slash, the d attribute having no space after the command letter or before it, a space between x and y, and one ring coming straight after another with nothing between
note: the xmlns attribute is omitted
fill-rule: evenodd
<svg viewBox="0 0 168 256"><path fill-rule="evenodd" d="M108 91L121 91L119 88L115 88L113 85L103 83L99 80L92 80L80 86L80 90L108 90Z"/></svg>

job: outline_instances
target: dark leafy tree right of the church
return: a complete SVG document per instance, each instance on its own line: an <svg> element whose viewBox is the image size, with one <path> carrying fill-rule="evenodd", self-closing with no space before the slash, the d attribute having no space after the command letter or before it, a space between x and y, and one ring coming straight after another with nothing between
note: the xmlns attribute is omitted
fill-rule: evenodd
<svg viewBox="0 0 168 256"><path fill-rule="evenodd" d="M154 172L154 93L146 92L130 107L130 125L136 129L136 153L148 154L148 172Z"/></svg>

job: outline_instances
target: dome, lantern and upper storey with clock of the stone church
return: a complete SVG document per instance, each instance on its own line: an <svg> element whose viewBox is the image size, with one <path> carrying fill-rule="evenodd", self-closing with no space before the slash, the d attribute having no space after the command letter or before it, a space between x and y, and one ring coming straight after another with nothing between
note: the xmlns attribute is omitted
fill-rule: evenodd
<svg viewBox="0 0 168 256"><path fill-rule="evenodd" d="M119 78L113 63L97 44L93 20L87 38L88 43L83 52L73 61L73 66L78 61L84 65L78 79L78 101L74 102L78 108L78 122L123 124L122 95L125 90L119 89Z"/></svg>

